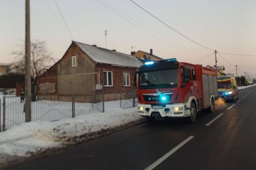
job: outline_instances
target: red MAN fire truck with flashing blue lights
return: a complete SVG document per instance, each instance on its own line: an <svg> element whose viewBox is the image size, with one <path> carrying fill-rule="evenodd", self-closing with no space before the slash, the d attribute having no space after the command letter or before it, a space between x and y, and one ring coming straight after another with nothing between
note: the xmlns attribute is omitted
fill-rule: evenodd
<svg viewBox="0 0 256 170"><path fill-rule="evenodd" d="M194 123L201 109L215 108L217 73L176 58L148 61L135 76L138 113L148 120L186 117Z"/></svg>

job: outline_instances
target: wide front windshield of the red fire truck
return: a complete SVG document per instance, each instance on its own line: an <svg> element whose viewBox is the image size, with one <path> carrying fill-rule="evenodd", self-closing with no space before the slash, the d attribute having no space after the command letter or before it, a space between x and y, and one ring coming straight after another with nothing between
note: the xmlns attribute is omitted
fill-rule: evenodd
<svg viewBox="0 0 256 170"><path fill-rule="evenodd" d="M177 87L179 81L178 69L148 71L140 73L141 89L157 89Z"/></svg>

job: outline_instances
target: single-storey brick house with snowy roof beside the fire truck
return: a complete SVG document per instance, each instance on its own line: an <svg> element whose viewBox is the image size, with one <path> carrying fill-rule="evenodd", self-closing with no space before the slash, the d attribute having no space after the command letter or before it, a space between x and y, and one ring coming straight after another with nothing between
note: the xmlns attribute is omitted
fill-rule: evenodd
<svg viewBox="0 0 256 170"><path fill-rule="evenodd" d="M106 101L117 100L120 92L132 91L137 58L72 41L63 57L37 83L39 95L89 94L104 92Z"/></svg>

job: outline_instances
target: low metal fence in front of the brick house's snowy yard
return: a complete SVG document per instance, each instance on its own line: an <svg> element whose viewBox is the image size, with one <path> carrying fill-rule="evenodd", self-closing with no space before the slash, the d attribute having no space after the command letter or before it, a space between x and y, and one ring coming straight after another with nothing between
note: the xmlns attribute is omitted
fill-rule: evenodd
<svg viewBox="0 0 256 170"><path fill-rule="evenodd" d="M32 96L31 101L32 121L57 121L83 114L104 112L103 93L83 95L40 95ZM3 130L25 122L25 97L3 97L2 117Z"/></svg>

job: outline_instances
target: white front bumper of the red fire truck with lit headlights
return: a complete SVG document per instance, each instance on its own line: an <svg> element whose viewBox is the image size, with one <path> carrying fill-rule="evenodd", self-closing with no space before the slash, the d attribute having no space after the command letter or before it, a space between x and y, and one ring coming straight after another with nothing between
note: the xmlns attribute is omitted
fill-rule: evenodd
<svg viewBox="0 0 256 170"><path fill-rule="evenodd" d="M167 104L161 109L155 109L151 104L138 104L138 113L143 117L187 117L190 116L190 108L185 106L182 103ZM175 111L175 107L178 107L179 111Z"/></svg>

